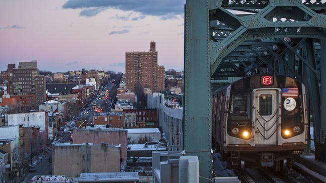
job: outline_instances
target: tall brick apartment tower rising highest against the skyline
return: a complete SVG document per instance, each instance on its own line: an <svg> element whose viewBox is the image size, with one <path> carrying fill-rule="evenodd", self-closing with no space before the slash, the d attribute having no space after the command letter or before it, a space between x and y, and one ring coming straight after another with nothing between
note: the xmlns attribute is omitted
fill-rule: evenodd
<svg viewBox="0 0 326 183"><path fill-rule="evenodd" d="M153 41L149 51L126 52L126 87L134 92L140 86L152 91L164 89L164 66L157 66Z"/></svg>

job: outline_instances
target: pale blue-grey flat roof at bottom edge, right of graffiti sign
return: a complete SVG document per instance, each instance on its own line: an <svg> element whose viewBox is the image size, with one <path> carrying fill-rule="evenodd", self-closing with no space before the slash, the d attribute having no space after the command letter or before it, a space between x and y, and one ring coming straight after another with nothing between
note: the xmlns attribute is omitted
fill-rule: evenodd
<svg viewBox="0 0 326 183"><path fill-rule="evenodd" d="M138 172L81 173L79 182L139 181Z"/></svg>

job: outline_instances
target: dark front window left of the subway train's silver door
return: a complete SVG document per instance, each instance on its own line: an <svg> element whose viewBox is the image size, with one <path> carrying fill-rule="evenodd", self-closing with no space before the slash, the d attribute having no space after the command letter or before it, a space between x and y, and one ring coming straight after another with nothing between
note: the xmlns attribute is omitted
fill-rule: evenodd
<svg viewBox="0 0 326 183"><path fill-rule="evenodd" d="M245 120L249 119L250 115L250 94L237 93L231 95L231 120Z"/></svg>

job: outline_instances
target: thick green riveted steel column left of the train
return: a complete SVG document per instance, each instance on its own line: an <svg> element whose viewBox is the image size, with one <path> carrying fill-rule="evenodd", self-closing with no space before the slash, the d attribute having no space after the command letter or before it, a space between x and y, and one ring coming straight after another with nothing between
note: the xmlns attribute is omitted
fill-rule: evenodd
<svg viewBox="0 0 326 183"><path fill-rule="evenodd" d="M211 182L213 169L209 31L208 0L187 0L184 149L198 156L200 182Z"/></svg>

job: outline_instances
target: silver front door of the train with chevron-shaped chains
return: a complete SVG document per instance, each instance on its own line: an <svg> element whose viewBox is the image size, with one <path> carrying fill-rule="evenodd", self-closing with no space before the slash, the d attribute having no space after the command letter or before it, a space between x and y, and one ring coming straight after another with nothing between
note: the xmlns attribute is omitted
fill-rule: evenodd
<svg viewBox="0 0 326 183"><path fill-rule="evenodd" d="M281 94L278 88L263 88L253 91L253 122L255 145L278 144L281 119Z"/></svg>

